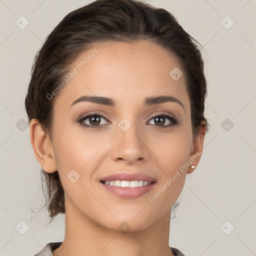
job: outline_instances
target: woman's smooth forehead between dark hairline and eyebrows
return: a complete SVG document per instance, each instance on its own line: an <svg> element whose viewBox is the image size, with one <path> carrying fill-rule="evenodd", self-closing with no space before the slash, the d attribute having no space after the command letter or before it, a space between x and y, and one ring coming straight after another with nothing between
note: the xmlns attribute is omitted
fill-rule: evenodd
<svg viewBox="0 0 256 256"><path fill-rule="evenodd" d="M97 44L73 62L70 70L75 75L58 95L56 104L70 105L82 95L97 95L113 98L116 105L131 106L146 97L170 95L189 107L185 77L173 79L173 68L183 72L178 58L153 42Z"/></svg>

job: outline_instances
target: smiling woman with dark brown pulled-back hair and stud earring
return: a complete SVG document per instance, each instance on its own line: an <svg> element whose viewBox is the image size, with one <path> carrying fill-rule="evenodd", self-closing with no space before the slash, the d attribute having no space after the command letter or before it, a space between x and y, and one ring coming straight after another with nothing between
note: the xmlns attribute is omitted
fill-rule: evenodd
<svg viewBox="0 0 256 256"><path fill-rule="evenodd" d="M65 237L37 256L183 255L168 244L170 214L208 128L195 42L134 0L96 0L49 34L25 107Z"/></svg>

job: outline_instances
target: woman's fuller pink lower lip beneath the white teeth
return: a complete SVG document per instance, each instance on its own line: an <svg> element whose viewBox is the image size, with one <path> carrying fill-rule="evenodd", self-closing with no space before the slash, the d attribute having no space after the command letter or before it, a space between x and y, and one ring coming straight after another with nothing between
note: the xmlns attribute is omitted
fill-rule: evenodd
<svg viewBox="0 0 256 256"><path fill-rule="evenodd" d="M110 192L121 198L137 198L143 194L148 193L152 190L156 182L151 183L150 185L146 186L138 186L138 187L121 187L121 186L114 186L114 185L106 185L103 182L99 182L103 187Z"/></svg>

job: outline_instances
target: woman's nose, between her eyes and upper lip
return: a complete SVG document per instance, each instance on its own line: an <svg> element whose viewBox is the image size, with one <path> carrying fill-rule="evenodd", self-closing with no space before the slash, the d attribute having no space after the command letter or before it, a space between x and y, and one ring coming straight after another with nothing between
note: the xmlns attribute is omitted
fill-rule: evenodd
<svg viewBox="0 0 256 256"><path fill-rule="evenodd" d="M146 135L134 124L126 131L117 127L116 135L112 139L112 159L127 164L148 160L149 149L146 140Z"/></svg>

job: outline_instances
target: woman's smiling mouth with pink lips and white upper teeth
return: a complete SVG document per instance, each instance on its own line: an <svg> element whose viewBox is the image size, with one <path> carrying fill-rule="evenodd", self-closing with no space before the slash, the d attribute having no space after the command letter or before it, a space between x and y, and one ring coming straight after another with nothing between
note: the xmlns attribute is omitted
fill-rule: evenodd
<svg viewBox="0 0 256 256"><path fill-rule="evenodd" d="M120 198L137 198L148 193L157 183L156 179L143 173L116 173L100 180L111 194Z"/></svg>

